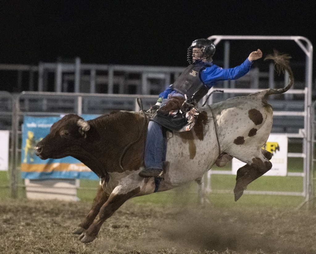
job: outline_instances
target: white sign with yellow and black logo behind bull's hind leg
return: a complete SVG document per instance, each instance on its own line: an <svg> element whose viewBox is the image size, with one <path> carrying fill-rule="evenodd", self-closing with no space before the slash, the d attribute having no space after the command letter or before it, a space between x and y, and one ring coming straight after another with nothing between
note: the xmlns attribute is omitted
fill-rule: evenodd
<svg viewBox="0 0 316 254"><path fill-rule="evenodd" d="M286 176L288 166L288 137L286 134L270 134L267 143L264 145L265 150L272 153L270 162L272 168L264 176ZM237 170L246 163L233 158L232 173L237 174Z"/></svg>

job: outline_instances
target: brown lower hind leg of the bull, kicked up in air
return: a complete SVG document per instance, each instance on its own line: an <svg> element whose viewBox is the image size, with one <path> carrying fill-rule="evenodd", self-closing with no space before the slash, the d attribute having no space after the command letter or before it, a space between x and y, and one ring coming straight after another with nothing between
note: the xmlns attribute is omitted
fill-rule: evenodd
<svg viewBox="0 0 316 254"><path fill-rule="evenodd" d="M249 183L271 169L272 163L268 158L272 156L267 151L265 151L266 153L261 152L260 156L252 158L250 163L237 170L236 185L234 188L235 201L241 197Z"/></svg>

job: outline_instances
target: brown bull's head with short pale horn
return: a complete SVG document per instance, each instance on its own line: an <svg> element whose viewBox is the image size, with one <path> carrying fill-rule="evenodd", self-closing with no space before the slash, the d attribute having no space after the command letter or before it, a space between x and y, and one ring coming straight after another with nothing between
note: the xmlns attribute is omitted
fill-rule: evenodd
<svg viewBox="0 0 316 254"><path fill-rule="evenodd" d="M36 145L36 155L41 159L76 157L89 129L89 123L78 115L65 115L52 125L49 134Z"/></svg>

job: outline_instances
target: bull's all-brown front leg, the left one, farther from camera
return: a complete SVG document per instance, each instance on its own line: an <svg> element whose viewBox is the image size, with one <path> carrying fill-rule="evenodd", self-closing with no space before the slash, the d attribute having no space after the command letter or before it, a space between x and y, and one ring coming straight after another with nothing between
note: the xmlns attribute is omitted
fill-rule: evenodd
<svg viewBox="0 0 316 254"><path fill-rule="evenodd" d="M93 199L92 207L86 218L80 223L76 228L72 231L74 234L81 234L85 230L88 229L88 227L93 223L95 217L98 215L100 208L103 206L103 204L108 200L109 195L107 195L104 190L102 189L102 186L99 186L99 189L97 191L97 195Z"/></svg>

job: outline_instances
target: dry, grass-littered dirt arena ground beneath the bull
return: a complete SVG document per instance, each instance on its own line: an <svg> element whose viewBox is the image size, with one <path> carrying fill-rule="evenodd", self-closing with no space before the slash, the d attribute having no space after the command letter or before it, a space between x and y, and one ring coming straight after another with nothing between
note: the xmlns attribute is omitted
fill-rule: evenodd
<svg viewBox="0 0 316 254"><path fill-rule="evenodd" d="M82 244L90 203L0 199L0 253L316 253L313 211L128 201Z"/></svg>

